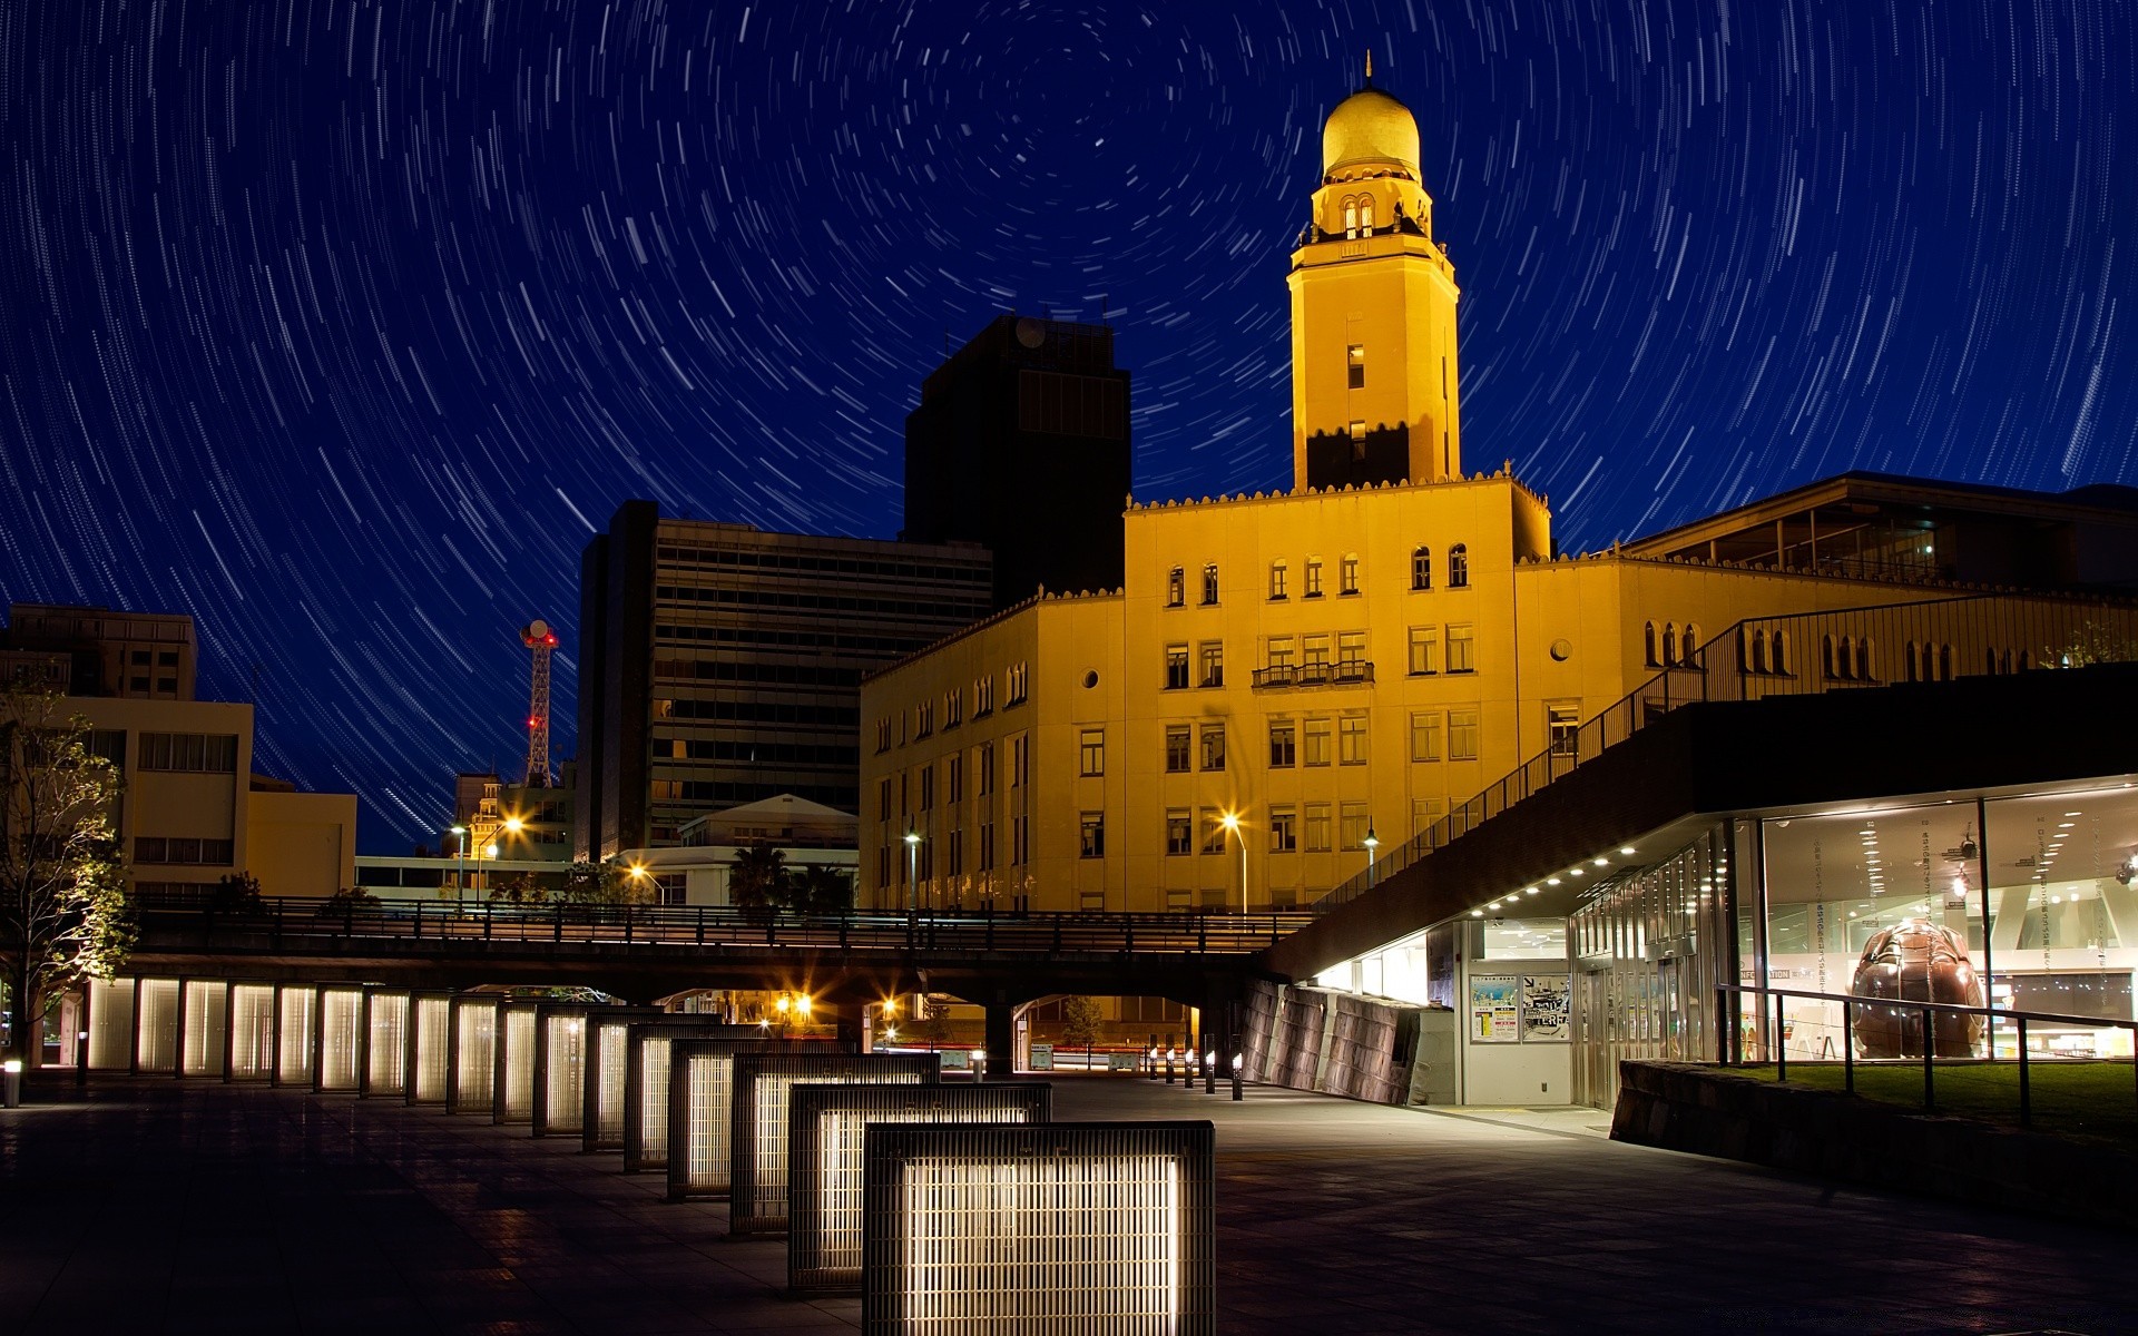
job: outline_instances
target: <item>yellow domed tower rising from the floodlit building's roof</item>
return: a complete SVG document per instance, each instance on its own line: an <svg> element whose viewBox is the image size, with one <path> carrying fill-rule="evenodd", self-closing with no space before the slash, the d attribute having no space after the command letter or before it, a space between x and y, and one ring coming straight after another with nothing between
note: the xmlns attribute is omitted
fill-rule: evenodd
<svg viewBox="0 0 2138 1336"><path fill-rule="evenodd" d="M1432 239L1417 120L1366 88L1321 126L1321 184L1291 252L1298 487L1462 477L1456 271Z"/></svg>

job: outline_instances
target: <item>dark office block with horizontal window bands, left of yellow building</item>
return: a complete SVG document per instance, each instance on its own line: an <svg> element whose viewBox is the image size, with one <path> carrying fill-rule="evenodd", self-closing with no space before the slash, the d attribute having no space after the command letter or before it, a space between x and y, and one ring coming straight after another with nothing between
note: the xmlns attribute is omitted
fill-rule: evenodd
<svg viewBox="0 0 2138 1336"><path fill-rule="evenodd" d="M857 810L862 673L983 618L988 592L971 545L624 502L579 564L575 853L671 844L693 817L776 793Z"/></svg>

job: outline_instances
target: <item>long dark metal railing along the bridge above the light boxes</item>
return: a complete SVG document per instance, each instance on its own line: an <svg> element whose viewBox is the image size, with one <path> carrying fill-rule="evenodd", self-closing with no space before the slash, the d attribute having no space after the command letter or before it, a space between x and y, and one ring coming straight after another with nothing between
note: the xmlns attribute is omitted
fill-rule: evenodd
<svg viewBox="0 0 2138 1336"><path fill-rule="evenodd" d="M184 949L165 934L306 941L547 943L667 947L793 947L945 956L1246 956L1313 921L1306 913L770 913L659 904L455 906L261 898L257 906L139 906L139 949Z"/></svg>

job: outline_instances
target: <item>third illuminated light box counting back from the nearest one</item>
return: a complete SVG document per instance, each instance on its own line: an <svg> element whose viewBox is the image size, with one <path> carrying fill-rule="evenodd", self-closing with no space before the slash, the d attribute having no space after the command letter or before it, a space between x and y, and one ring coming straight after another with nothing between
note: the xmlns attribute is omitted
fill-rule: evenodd
<svg viewBox="0 0 2138 1336"><path fill-rule="evenodd" d="M787 1103L810 1086L934 1084L934 1054L744 1054L735 1058L735 1107L729 1120L729 1233L787 1229Z"/></svg>

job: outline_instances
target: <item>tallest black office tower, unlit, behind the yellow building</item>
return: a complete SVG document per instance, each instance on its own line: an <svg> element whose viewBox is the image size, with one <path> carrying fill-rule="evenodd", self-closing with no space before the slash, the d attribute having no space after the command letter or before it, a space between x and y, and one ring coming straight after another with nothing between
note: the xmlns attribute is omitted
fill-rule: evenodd
<svg viewBox="0 0 2138 1336"><path fill-rule="evenodd" d="M909 543L994 554L994 607L1120 588L1129 372L1103 325L996 316L907 415Z"/></svg>

